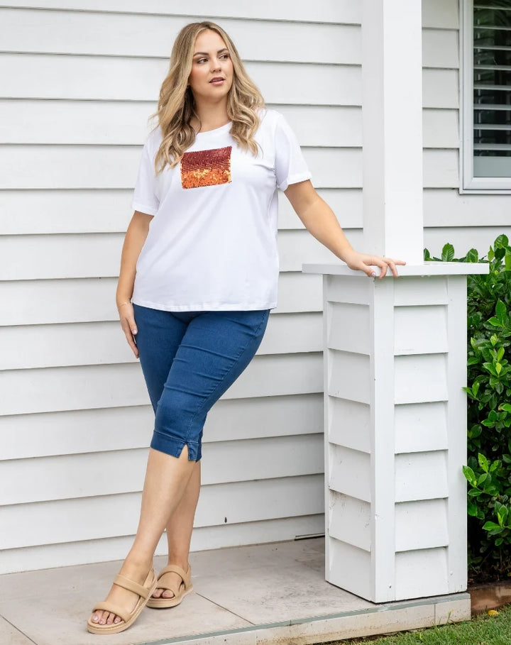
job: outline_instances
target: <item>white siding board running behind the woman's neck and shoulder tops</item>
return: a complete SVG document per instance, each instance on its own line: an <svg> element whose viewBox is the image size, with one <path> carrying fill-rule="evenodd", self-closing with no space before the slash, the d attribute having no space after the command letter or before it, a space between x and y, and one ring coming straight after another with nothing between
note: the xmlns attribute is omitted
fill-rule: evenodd
<svg viewBox="0 0 511 645"><path fill-rule="evenodd" d="M269 105L268 107L273 107ZM155 104L0 99L1 143L140 145ZM305 147L361 148L361 106L275 105ZM458 111L424 110L424 148L458 147Z"/></svg>

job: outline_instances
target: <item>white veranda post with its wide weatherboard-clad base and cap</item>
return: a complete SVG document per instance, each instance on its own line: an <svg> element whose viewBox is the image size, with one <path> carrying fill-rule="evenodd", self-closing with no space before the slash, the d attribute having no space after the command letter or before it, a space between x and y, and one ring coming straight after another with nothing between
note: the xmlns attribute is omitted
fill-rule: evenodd
<svg viewBox="0 0 511 645"><path fill-rule="evenodd" d="M373 602L466 590L466 274L423 263L422 6L363 0L364 249L324 274L326 579ZM470 600L463 596L470 616Z"/></svg>

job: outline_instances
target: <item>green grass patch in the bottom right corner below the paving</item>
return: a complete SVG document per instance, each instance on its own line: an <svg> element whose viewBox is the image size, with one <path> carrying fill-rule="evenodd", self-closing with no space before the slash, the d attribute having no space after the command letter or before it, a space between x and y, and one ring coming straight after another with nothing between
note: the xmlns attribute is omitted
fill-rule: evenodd
<svg viewBox="0 0 511 645"><path fill-rule="evenodd" d="M402 632L395 636L348 639L323 645L511 645L511 605L502 607L498 616L481 614L469 622Z"/></svg>

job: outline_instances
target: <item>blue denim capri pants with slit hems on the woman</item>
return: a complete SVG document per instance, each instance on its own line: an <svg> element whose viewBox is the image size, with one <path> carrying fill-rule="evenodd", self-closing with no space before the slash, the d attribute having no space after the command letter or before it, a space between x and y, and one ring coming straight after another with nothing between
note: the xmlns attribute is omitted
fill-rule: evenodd
<svg viewBox="0 0 511 645"><path fill-rule="evenodd" d="M136 344L155 412L151 448L190 461L202 456L202 429L213 404L257 351L269 309L164 312L133 305Z"/></svg>

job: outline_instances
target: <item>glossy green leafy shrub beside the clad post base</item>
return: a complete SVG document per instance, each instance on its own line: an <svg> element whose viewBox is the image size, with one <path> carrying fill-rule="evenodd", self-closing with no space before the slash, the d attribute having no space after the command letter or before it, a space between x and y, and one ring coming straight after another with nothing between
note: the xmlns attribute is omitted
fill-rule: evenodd
<svg viewBox="0 0 511 645"><path fill-rule="evenodd" d="M424 260L488 262L468 276L468 555L475 573L502 578L511 570L511 246L501 235L488 258L476 249ZM511 575L511 573L509 573Z"/></svg>

